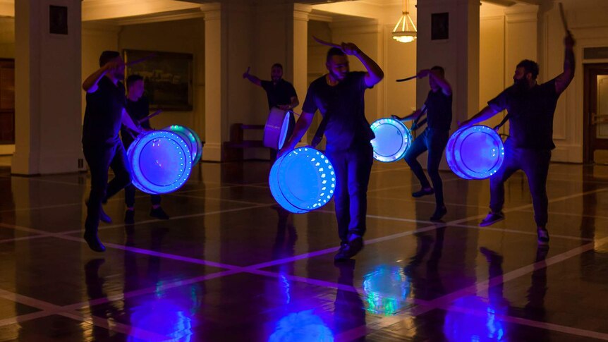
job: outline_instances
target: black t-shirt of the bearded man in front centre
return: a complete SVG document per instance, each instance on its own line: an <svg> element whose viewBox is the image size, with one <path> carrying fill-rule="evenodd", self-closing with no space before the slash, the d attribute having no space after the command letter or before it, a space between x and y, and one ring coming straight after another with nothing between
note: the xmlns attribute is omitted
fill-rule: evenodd
<svg viewBox="0 0 608 342"><path fill-rule="evenodd" d="M327 149L348 149L355 143L369 145L375 138L365 118L365 73L355 71L335 86L327 84L325 75L310 83L302 111L329 115L325 137Z"/></svg>

